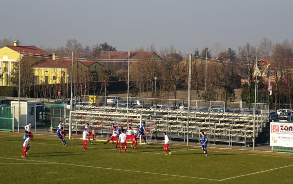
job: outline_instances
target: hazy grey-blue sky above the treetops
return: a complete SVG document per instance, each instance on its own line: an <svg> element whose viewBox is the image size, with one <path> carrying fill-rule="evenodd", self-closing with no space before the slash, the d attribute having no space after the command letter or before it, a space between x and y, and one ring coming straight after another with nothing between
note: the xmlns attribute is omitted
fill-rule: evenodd
<svg viewBox="0 0 293 184"><path fill-rule="evenodd" d="M0 39L21 45L107 42L119 51L173 45L237 50L263 36L293 40L293 0L2 0Z"/></svg>

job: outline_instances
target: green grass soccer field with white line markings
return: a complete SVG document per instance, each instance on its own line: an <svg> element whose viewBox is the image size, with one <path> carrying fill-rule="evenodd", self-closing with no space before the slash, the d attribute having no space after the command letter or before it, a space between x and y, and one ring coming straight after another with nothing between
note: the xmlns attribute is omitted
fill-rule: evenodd
<svg viewBox="0 0 293 184"><path fill-rule="evenodd" d="M163 144L138 145L127 153L94 141L83 150L80 138L34 135L21 158L24 134L0 132L0 184L291 184L292 153L271 153Z"/></svg>

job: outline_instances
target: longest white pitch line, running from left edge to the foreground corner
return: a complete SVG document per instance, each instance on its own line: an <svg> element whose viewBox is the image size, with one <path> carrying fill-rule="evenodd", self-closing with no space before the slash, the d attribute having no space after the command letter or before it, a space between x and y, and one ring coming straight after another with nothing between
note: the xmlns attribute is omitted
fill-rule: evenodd
<svg viewBox="0 0 293 184"><path fill-rule="evenodd" d="M0 157L0 159L11 159L11 160L18 160L18 161L33 161L33 160L12 159L12 158L5 158L5 157ZM116 171L135 172L135 173L144 173L144 174L152 174L152 175L171 176L171 177L181 177L181 178L193 178L193 179L200 179L200 180L220 181L220 180L209 179L209 178L199 178L199 177L191 177L191 176L181 176L181 175L172 175L172 174L163 174L163 173L153 173L153 172L144 172L144 171L125 170L125 169L115 169L115 168L97 167L97 166L89 166L89 165L78 165L78 164L71 164L71 163L60 163L60 162L51 162L51 161L39 161L39 162L71 165L71 166L78 166L78 167L89 167L89 168L97 168L97 169L108 169L108 170L116 170Z"/></svg>

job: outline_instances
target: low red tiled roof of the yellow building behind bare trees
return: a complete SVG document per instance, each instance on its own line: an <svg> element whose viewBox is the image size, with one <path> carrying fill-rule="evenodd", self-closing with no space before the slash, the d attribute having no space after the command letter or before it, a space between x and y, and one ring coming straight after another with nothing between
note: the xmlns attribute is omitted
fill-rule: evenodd
<svg viewBox="0 0 293 184"><path fill-rule="evenodd" d="M73 61L76 63L77 61ZM72 60L52 60L42 59L33 65L34 68L62 68L66 69L71 66Z"/></svg>

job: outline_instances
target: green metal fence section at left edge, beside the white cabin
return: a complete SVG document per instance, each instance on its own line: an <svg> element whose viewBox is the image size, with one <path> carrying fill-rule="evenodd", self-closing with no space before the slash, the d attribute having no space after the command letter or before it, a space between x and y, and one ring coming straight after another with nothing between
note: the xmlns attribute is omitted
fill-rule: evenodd
<svg viewBox="0 0 293 184"><path fill-rule="evenodd" d="M13 107L0 107L0 130L13 131Z"/></svg>

